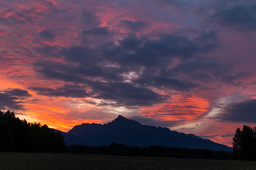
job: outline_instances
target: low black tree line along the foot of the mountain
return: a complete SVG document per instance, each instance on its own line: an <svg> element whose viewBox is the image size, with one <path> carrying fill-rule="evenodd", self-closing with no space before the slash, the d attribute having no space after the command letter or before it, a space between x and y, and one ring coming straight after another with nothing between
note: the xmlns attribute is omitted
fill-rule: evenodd
<svg viewBox="0 0 256 170"><path fill-rule="evenodd" d="M187 149L179 147L163 147L153 145L149 147L130 147L112 143L102 147L84 145L67 146L67 151L75 154L110 154L140 157L176 157L193 159L233 159L232 152L213 151L210 149Z"/></svg>

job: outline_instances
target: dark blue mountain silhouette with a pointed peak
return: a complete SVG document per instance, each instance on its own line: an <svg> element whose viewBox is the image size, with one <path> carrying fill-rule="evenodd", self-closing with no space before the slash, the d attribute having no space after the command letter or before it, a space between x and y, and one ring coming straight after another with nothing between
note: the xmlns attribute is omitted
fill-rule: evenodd
<svg viewBox="0 0 256 170"><path fill-rule="evenodd" d="M87 145L94 147L110 145L114 142L133 147L161 145L164 147L232 151L230 147L202 139L193 134L186 135L182 132L169 130L169 128L142 125L135 120L129 120L121 115L104 125L95 123L76 125L67 135L78 137L82 141L86 141ZM65 142L67 145L74 144L74 142L69 143L68 140L65 140ZM84 143L79 141L77 144L84 145Z"/></svg>

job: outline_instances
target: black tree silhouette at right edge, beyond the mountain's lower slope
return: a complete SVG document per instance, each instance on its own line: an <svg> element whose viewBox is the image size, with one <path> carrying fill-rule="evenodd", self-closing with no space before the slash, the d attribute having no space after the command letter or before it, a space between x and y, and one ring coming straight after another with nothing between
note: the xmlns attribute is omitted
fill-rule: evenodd
<svg viewBox="0 0 256 170"><path fill-rule="evenodd" d="M237 159L256 160L256 127L237 128L233 137L233 152Z"/></svg>

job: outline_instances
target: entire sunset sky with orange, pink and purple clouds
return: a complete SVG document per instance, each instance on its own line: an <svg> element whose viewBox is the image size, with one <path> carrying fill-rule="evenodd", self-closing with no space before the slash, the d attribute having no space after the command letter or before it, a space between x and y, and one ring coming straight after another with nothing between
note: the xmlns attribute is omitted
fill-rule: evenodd
<svg viewBox="0 0 256 170"><path fill-rule="evenodd" d="M254 0L1 0L0 109L67 132L123 115L232 146L256 123Z"/></svg>

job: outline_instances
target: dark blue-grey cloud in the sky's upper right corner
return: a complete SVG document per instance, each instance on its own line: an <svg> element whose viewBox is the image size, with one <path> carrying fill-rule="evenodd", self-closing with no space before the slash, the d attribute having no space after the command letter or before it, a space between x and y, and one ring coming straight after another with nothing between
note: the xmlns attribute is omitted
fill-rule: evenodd
<svg viewBox="0 0 256 170"><path fill-rule="evenodd" d="M256 29L256 5L239 4L217 11L210 20L237 30L247 31Z"/></svg>

